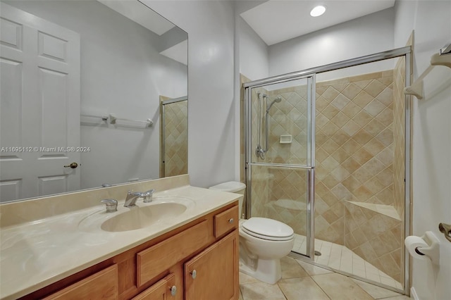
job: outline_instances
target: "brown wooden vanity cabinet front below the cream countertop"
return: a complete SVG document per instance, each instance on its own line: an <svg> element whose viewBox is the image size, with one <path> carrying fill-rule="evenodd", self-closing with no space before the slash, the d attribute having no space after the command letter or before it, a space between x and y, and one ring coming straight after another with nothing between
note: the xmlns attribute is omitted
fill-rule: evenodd
<svg viewBox="0 0 451 300"><path fill-rule="evenodd" d="M235 300L238 274L235 201L22 299Z"/></svg>

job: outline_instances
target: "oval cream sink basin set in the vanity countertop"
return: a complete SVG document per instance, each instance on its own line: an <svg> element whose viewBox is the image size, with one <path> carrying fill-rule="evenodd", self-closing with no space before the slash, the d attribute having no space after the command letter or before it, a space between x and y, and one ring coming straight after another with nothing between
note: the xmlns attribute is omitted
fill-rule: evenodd
<svg viewBox="0 0 451 300"><path fill-rule="evenodd" d="M84 218L78 225L83 231L123 232L139 230L183 215L194 206L194 201L179 196L154 196L152 202L138 201L131 208L118 205L118 211L98 211Z"/></svg>

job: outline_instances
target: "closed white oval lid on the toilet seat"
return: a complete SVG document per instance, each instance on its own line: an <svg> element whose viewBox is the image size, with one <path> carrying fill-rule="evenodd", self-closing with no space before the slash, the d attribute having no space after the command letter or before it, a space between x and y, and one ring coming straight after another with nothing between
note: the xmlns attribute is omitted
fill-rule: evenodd
<svg viewBox="0 0 451 300"><path fill-rule="evenodd" d="M261 239L271 239L273 241L285 241L292 239L294 231L292 227L277 220L268 218L250 218L242 224L242 230L249 235Z"/></svg>

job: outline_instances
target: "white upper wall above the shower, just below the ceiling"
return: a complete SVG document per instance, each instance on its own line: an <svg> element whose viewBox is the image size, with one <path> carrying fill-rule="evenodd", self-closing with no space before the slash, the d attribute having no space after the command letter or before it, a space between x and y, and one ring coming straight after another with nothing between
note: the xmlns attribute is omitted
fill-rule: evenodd
<svg viewBox="0 0 451 300"><path fill-rule="evenodd" d="M269 75L306 70L393 49L393 8L269 46ZM393 62L341 70L317 80L393 68Z"/></svg>

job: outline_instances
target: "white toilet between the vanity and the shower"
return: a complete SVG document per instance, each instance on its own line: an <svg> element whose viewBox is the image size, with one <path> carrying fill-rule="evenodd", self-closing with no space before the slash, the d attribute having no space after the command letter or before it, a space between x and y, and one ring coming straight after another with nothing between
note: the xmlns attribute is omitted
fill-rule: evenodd
<svg viewBox="0 0 451 300"><path fill-rule="evenodd" d="M245 194L242 182L224 182L210 189ZM239 213L241 217L242 199ZM280 258L290 253L295 243L292 228L277 220L249 218L240 220L240 272L273 285L282 277Z"/></svg>

